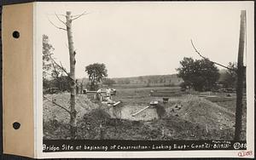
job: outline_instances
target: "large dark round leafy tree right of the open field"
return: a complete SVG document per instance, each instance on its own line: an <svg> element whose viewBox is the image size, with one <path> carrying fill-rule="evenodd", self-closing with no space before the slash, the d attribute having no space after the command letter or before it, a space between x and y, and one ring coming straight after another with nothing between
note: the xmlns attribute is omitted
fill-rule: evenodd
<svg viewBox="0 0 256 160"><path fill-rule="evenodd" d="M218 81L218 68L209 60L193 60L184 57L180 61L181 67L177 68L178 77L182 77L186 86L197 91L213 89Z"/></svg>

